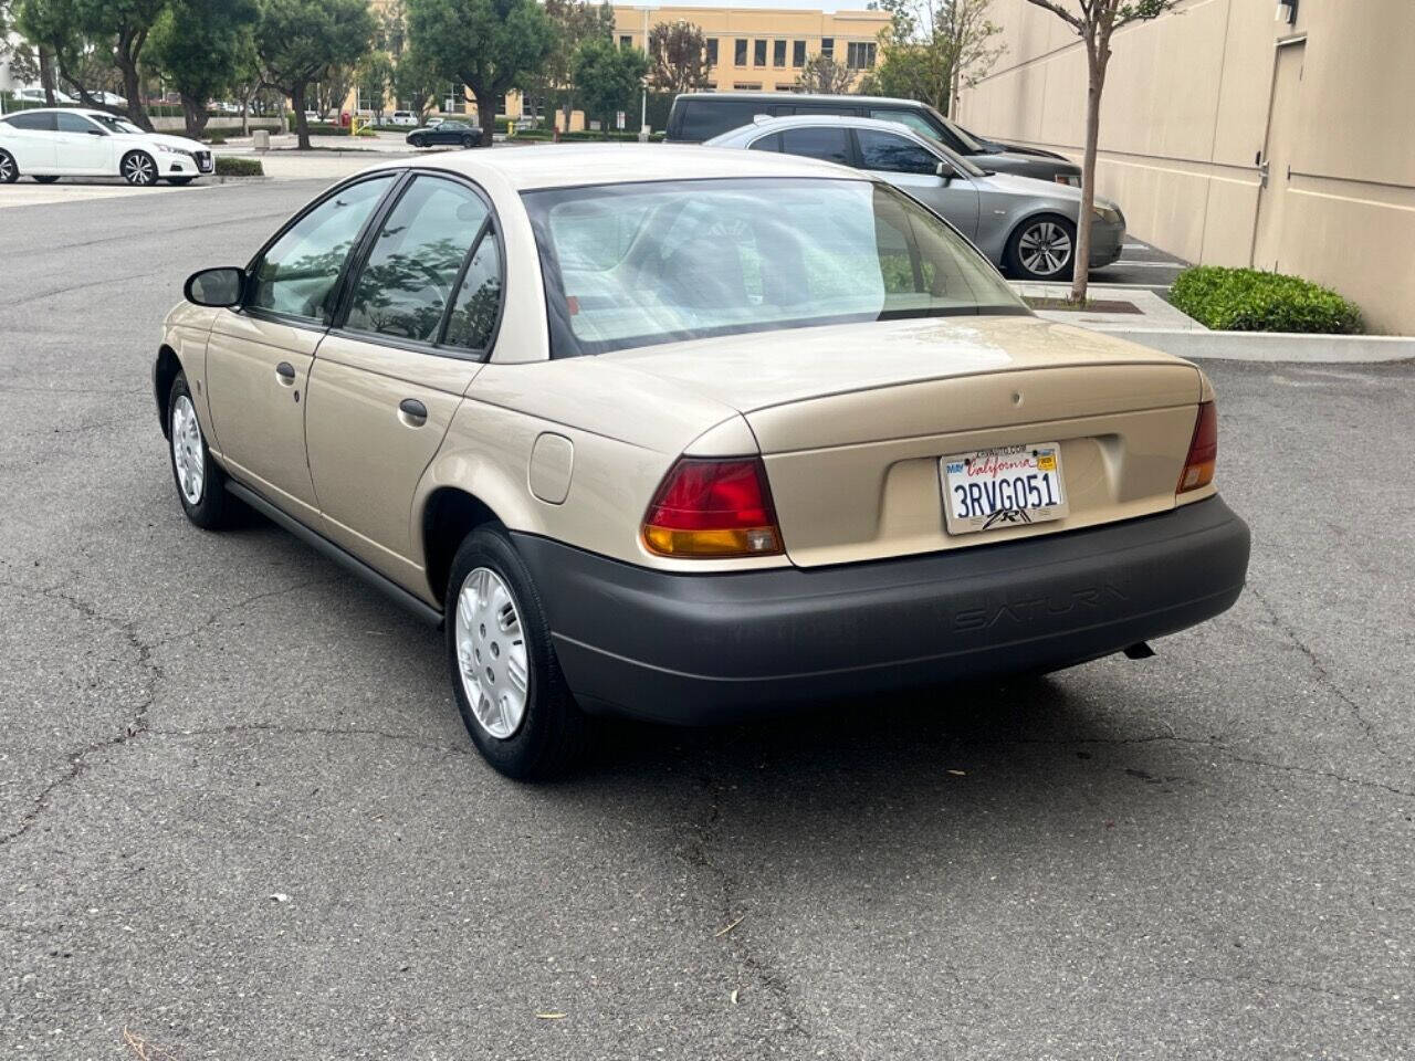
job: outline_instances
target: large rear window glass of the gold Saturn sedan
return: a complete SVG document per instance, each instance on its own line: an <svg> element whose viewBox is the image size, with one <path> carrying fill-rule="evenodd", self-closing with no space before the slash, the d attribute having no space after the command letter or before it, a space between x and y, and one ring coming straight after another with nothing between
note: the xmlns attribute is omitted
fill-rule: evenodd
<svg viewBox="0 0 1415 1061"><path fill-rule="evenodd" d="M1027 313L978 250L886 184L662 181L524 198L553 356L816 324Z"/></svg>

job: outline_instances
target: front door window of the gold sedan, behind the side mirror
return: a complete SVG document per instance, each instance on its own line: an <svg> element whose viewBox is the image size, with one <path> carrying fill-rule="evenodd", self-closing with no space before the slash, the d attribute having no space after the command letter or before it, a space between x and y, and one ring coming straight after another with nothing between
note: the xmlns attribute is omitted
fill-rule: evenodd
<svg viewBox="0 0 1415 1061"><path fill-rule="evenodd" d="M344 259L392 185L393 174L351 184L294 222L252 270L248 306L323 323Z"/></svg>

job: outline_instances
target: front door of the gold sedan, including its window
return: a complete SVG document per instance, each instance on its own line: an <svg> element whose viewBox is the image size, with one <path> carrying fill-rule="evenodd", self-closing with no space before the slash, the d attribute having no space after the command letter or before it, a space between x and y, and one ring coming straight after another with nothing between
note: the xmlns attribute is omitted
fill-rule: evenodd
<svg viewBox="0 0 1415 1061"><path fill-rule="evenodd" d="M207 345L207 400L222 458L310 525L320 516L301 399L345 262L396 178L355 180L286 225L252 263L241 308L216 314Z"/></svg>

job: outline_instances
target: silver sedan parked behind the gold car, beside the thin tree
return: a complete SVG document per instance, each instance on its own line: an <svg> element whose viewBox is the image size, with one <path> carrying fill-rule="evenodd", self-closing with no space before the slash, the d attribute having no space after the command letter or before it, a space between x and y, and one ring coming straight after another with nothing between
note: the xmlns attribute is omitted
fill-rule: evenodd
<svg viewBox="0 0 1415 1061"><path fill-rule="evenodd" d="M989 173L896 122L835 115L760 119L708 143L866 170L935 209L993 265L1020 279L1061 280L1075 266L1080 188ZM1124 243L1121 208L1097 197L1091 267L1111 265Z"/></svg>

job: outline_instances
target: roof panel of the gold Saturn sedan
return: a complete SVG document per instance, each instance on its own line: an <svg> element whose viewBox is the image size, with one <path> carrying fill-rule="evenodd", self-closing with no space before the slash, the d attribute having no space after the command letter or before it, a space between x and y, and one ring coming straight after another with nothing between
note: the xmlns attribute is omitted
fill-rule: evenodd
<svg viewBox="0 0 1415 1061"><path fill-rule="evenodd" d="M521 191L593 184L720 180L724 177L833 177L869 180L856 170L815 158L689 144L545 144L453 151L403 167L436 167L468 177L492 171Z"/></svg>

